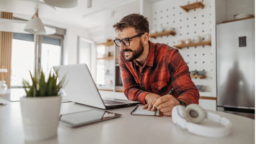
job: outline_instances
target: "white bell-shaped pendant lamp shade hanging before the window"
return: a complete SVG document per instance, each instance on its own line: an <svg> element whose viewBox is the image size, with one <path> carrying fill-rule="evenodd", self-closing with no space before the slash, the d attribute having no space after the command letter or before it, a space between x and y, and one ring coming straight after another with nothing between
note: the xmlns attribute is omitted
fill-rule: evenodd
<svg viewBox="0 0 256 144"><path fill-rule="evenodd" d="M37 35L44 35L46 33L44 29L44 25L41 19L38 17L31 18L27 22L27 25L25 26L24 31L37 34Z"/></svg>

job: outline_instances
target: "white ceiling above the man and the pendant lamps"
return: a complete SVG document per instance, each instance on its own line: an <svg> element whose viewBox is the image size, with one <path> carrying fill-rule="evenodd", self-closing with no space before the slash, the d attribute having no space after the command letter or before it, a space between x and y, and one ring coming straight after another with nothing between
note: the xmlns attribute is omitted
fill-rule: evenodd
<svg viewBox="0 0 256 144"><path fill-rule="evenodd" d="M35 0L0 0L0 3L8 1L35 1ZM40 0L43 1L43 0ZM46 8L39 10L39 17L45 24L52 24L57 27L65 28L66 25L76 26L85 29L112 24L124 15L139 12L140 0L92 0L92 7L87 8L87 0L78 0L78 6L75 8L58 8L56 11L50 11ZM155 3L162 0L146 0ZM25 13L26 9L34 9L33 6L12 5L14 17L30 19L34 13ZM44 12L44 9L46 12ZM0 9L1 11L1 9ZM12 12L12 11L10 11ZM48 12L48 13L47 13ZM43 13L43 14L42 14ZM114 15L113 15L114 13ZM62 26L63 25L63 26Z"/></svg>

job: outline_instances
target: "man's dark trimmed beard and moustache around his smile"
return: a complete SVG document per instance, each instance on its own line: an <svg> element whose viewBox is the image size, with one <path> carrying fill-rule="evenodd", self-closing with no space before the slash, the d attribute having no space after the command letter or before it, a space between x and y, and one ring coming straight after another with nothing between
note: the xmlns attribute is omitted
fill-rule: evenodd
<svg viewBox="0 0 256 144"><path fill-rule="evenodd" d="M132 54L126 56L126 55L124 54L125 51L131 51ZM142 45L142 41L140 41L140 45L139 45L139 47L137 48L137 50L132 51L131 49L125 49L125 50L122 51L122 53L124 54L124 59L125 59L125 61L131 62L132 60L134 60L134 59L140 57L140 55L142 54L143 51L144 51L144 46Z"/></svg>

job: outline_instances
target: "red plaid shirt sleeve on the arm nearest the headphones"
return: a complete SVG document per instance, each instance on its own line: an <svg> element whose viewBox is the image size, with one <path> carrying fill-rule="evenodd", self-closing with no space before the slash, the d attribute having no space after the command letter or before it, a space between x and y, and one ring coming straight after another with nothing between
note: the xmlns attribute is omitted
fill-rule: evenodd
<svg viewBox="0 0 256 144"><path fill-rule="evenodd" d="M178 50L169 51L167 66L171 75L172 85L178 93L177 99L182 99L187 104L199 104L199 91L191 80L189 67Z"/></svg>

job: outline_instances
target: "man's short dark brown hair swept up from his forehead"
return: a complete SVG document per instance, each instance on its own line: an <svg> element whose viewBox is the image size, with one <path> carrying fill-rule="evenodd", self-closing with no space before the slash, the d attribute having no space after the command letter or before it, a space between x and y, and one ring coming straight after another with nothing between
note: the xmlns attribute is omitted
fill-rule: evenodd
<svg viewBox="0 0 256 144"><path fill-rule="evenodd" d="M149 21L140 14L129 14L113 25L116 30L122 31L124 28L133 27L137 33L149 33Z"/></svg>

